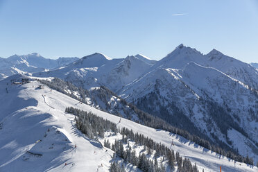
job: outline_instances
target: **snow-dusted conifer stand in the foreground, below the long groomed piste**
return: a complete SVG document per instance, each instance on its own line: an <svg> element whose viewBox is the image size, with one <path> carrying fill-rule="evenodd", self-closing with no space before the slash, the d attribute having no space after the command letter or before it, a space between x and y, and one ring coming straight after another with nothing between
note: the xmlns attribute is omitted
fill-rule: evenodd
<svg viewBox="0 0 258 172"><path fill-rule="evenodd" d="M175 155L174 151L164 146L164 144L158 144L157 142L153 141L153 139L145 137L138 132L135 134L132 132L132 130L128 130L128 128L122 128L121 130L119 128L119 130L117 130L116 123L112 123L107 119L98 117L92 112L85 112L74 107L67 107L65 112L76 115L76 126L89 138L94 139L95 137L104 137L104 132L114 132L114 134L119 132L121 135L123 135L123 138L121 140L116 139L112 146L110 146L110 141L105 140L104 146L111 148L119 157L123 158L123 160L137 166L142 171L165 171L165 166L162 165L162 163L157 163L157 157L163 157L163 161L167 160L171 169L173 169L175 162L177 162L178 171L180 172L198 171L196 164L191 165L189 159L186 158L182 160L179 153L176 153ZM155 160L153 161L148 159L144 153L137 156L135 150L132 150L131 146L128 146L128 148L125 150L123 144L128 144L129 139L130 141L135 141L135 144L148 148L148 155L151 154L152 150L155 150ZM113 168L119 169L118 171L121 170L118 165L114 163L110 167L110 171L114 171Z"/></svg>

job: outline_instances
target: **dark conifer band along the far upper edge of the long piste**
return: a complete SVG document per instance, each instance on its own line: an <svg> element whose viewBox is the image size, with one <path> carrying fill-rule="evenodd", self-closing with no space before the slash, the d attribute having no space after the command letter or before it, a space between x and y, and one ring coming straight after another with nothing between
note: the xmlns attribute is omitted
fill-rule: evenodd
<svg viewBox="0 0 258 172"><path fill-rule="evenodd" d="M43 84L49 86L51 89L55 89L58 92L67 94L68 96L71 96L72 98L75 98L78 101L81 101L85 104L87 104L87 101L85 99L86 96L90 96L90 98L92 98L93 101L95 100L94 96L92 96L89 93L89 91L87 91L87 89L78 88L78 87L74 86L72 83L65 82L64 80L61 80L60 78L54 78L51 81L49 81L49 80L39 80L39 81L40 81L40 83L43 83ZM71 92L65 91L66 89L71 90ZM131 103L126 102L123 98L114 94L114 92L112 92L110 89L107 89L107 87L101 86L99 90L100 90L99 92L101 95L105 94L103 96L106 96L106 94L109 94L112 96L116 96L117 98L119 98L121 100L120 102L122 103L123 106L130 107L133 110L133 112L135 112L135 114L137 114L137 117L139 118L139 121L135 121L137 123L140 123L144 126L148 126L150 128L162 129L162 130L166 130L169 132L173 132L186 139L189 139L190 141L195 142L196 144L198 144L200 146L203 146L204 148L212 150L215 153L229 157L232 160L235 160L238 162L244 162L246 164L251 164L251 165L254 164L252 157L248 157L248 156L243 157L242 155L239 155L239 153L236 150L230 148L229 146L224 144L219 139L216 139L216 144L215 144L213 141L211 141L211 139L205 137L205 135L200 135L200 137L199 137L198 135L191 134L187 130L171 126L170 123L166 122L166 121L169 121L168 119L169 119L169 117L171 117L171 115L167 117L166 121L164 121L163 119L160 119L160 117L155 117L142 110L139 110L135 105L132 105ZM78 98L73 92L78 92L80 94L80 98ZM144 104L144 103L141 103L141 104ZM216 106L214 106L214 107L216 107ZM106 110L104 110L104 111L106 111ZM164 114L164 116L166 117L165 110L162 112L164 112L162 114ZM180 110L177 110L176 108L175 108L175 112L176 112L175 114L182 114L182 113L180 113ZM121 117L121 114L116 113L114 115ZM183 117L183 116L180 116L180 117ZM173 120L173 121L176 122L176 120ZM188 126L188 128L189 127L191 127L191 126ZM194 128L191 128L191 129L194 129ZM239 131L241 131L241 130L239 129ZM218 146L218 145L220 145L220 146Z"/></svg>

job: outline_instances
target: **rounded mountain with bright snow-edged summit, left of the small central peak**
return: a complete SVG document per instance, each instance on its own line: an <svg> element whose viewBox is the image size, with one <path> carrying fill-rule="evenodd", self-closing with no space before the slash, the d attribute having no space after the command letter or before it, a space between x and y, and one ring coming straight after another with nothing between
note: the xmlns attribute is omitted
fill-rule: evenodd
<svg viewBox="0 0 258 172"><path fill-rule="evenodd" d="M78 87L89 89L103 85L99 78L108 74L108 72L122 60L123 59L110 59L101 53L94 53L76 60L67 65L67 67L36 73L33 74L33 76L62 78L74 83Z"/></svg>

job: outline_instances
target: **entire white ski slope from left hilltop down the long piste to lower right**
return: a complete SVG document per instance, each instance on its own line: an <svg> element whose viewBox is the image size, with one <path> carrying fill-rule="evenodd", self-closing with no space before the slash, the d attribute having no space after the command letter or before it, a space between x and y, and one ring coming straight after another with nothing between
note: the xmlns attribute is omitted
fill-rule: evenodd
<svg viewBox="0 0 258 172"><path fill-rule="evenodd" d="M65 108L73 106L93 112L114 123L120 117L80 104L48 87L37 89L37 81L10 85L12 78L0 81L0 171L108 171L112 150L105 152L96 141L84 137L74 126L74 115L65 113ZM171 132L127 119L118 126L169 147L173 139L173 150L196 162L200 171L219 171L219 166L223 171L258 171L255 166L234 163ZM101 164L103 167L98 168Z"/></svg>

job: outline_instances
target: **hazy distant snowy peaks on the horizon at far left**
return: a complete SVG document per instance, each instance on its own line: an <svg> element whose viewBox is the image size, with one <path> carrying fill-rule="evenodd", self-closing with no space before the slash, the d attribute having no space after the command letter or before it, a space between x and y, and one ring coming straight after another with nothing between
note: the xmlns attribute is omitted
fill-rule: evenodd
<svg viewBox="0 0 258 172"><path fill-rule="evenodd" d="M0 58L0 80L13 74L34 73L63 67L75 60L78 60L78 58L46 59L38 53Z"/></svg>

